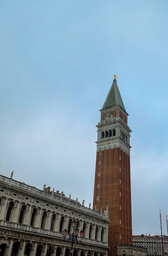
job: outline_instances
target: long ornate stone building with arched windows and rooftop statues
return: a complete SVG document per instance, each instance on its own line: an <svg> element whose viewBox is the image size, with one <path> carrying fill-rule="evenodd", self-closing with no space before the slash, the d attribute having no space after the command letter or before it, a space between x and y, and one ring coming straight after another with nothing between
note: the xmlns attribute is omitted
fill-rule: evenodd
<svg viewBox="0 0 168 256"><path fill-rule="evenodd" d="M11 175L12 176L12 175ZM0 256L69 256L72 221L84 231L74 243L73 256L107 256L107 214L99 213L63 195L36 189L0 175Z"/></svg>

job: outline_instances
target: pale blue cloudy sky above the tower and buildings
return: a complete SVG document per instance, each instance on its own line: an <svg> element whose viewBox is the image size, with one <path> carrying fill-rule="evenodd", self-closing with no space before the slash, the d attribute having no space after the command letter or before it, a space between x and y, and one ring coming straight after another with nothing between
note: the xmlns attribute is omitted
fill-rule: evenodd
<svg viewBox="0 0 168 256"><path fill-rule="evenodd" d="M89 206L113 75L129 113L133 234L167 235L168 1L0 1L0 173Z"/></svg>

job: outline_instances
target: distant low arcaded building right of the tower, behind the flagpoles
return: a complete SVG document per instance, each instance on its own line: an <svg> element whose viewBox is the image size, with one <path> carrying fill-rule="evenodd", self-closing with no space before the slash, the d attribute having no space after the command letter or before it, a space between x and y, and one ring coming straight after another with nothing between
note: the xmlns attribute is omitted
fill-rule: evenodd
<svg viewBox="0 0 168 256"><path fill-rule="evenodd" d="M148 256L163 256L161 236L132 236L133 245L147 249ZM168 236L163 236L164 254L168 254Z"/></svg>

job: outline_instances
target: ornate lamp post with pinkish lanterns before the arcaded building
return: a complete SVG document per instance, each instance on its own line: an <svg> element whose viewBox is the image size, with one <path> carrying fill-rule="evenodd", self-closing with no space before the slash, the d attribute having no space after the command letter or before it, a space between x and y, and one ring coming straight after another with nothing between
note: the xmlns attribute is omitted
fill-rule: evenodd
<svg viewBox="0 0 168 256"><path fill-rule="evenodd" d="M71 256L72 256L72 252L73 252L74 242L78 243L77 236L78 236L79 229L76 228L75 220L72 221L72 228L73 228L73 233L69 235L69 239L67 240L67 242L72 242L71 243ZM79 233L80 233L80 238L81 238L80 243L82 243L82 239L84 237L84 231L81 230ZM64 239L66 238L66 236L67 236L67 229L64 229L63 230Z"/></svg>

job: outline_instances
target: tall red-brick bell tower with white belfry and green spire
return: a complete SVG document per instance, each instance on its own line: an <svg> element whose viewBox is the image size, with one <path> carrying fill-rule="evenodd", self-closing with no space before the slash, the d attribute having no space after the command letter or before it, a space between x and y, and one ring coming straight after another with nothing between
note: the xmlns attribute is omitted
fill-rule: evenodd
<svg viewBox="0 0 168 256"><path fill-rule="evenodd" d="M117 245L132 244L131 184L130 184L130 127L116 76L100 110L93 209L106 210L109 256L117 255Z"/></svg>

